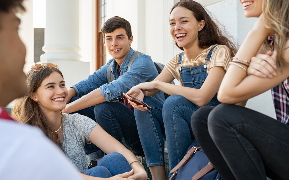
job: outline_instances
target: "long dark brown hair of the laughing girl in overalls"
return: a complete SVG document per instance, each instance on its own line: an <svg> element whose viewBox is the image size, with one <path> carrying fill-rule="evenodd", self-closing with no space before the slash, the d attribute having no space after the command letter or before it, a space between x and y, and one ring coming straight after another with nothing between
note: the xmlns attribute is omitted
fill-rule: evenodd
<svg viewBox="0 0 289 180"><path fill-rule="evenodd" d="M220 44L220 45L226 45L228 48L230 48L231 56L233 57L237 53L237 47L235 43L233 43L227 36L224 34L227 34L225 31L225 28L223 27L223 32L219 28L217 24L220 25L220 23L217 20L213 20L204 6L202 6L200 3L195 2L193 0L182 0L180 2L177 2L171 9L172 13L173 9L181 6L184 8L189 9L193 14L194 17L197 19L198 22L204 20L205 26L198 33L198 39L199 39L199 46L201 48L207 48L214 44ZM216 23L217 22L217 23ZM232 37L230 37L232 39ZM177 42L176 42L177 45ZM177 45L178 46L178 45ZM184 50L184 48L179 47L181 50Z"/></svg>

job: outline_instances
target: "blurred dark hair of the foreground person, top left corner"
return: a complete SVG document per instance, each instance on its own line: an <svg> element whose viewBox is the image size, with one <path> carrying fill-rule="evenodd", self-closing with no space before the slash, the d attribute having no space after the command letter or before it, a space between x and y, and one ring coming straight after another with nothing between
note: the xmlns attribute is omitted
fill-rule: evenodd
<svg viewBox="0 0 289 180"><path fill-rule="evenodd" d="M0 0L0 12L25 11L22 2L23 0Z"/></svg>

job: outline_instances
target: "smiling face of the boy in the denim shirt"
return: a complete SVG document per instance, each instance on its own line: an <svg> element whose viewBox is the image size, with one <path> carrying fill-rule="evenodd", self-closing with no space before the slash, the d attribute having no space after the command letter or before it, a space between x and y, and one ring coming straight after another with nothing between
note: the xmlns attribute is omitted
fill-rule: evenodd
<svg viewBox="0 0 289 180"><path fill-rule="evenodd" d="M103 43L109 54L121 64L130 51L133 36L127 37L123 28L117 28L113 32L105 33Z"/></svg>

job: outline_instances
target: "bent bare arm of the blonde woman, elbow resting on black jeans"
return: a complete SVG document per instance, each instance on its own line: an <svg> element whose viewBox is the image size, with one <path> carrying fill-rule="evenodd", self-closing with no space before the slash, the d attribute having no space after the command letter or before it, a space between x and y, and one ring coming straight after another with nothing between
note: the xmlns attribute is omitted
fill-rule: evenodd
<svg viewBox="0 0 289 180"><path fill-rule="evenodd" d="M237 58L245 60L251 59L251 57L255 56L259 47L262 45L262 42L272 33L271 29L267 29L264 26L263 21L263 16L261 15L237 52ZM252 41L252 39L254 40ZM286 49L284 54L284 58L287 62L289 61L288 51L289 50ZM252 59L266 59L269 57L274 59L276 56L274 53L272 56L259 54ZM261 78L254 75L247 76L247 73L238 66L230 65L223 82L221 83L218 100L222 103L236 104L275 87L288 76L289 67L287 66L273 78Z"/></svg>

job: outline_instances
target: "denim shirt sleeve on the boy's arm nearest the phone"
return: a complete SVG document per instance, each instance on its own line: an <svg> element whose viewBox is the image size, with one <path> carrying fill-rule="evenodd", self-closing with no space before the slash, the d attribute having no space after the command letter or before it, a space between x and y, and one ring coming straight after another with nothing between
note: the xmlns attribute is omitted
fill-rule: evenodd
<svg viewBox="0 0 289 180"><path fill-rule="evenodd" d="M127 72L109 84L103 84L100 87L100 91L103 97L105 97L106 102L117 101L131 87L142 82L152 81L157 75L158 73L151 57L140 54Z"/></svg>

